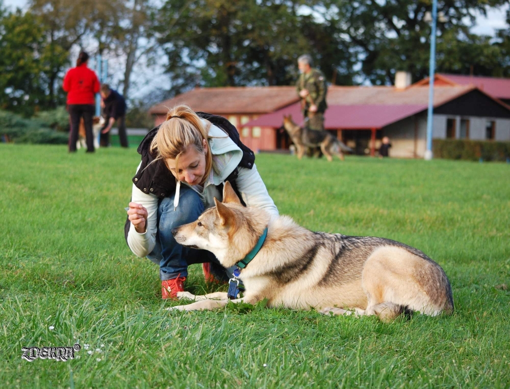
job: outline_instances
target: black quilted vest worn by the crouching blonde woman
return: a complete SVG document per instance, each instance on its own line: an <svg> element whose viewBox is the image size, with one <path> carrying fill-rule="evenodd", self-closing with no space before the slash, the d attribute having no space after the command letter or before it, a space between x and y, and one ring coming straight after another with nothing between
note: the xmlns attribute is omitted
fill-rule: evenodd
<svg viewBox="0 0 510 389"><path fill-rule="evenodd" d="M225 131L228 136L234 141L234 143L239 146L239 148L243 152L243 157L241 162L239 162L239 166L246 169L252 169L253 164L255 163L255 155L253 151L247 148L241 142L239 138L239 132L236 127L234 127L228 120L221 116L211 115L204 112L196 113L200 118L206 119L215 126L221 128ZM138 154L142 156L142 163L140 165L140 169L138 169L137 174L133 177L133 183L135 186L140 189L144 193L152 193L155 194L160 199L173 195L175 193L175 177L170 173L165 163L162 160L158 160L154 163L151 163L154 160L154 156L150 154L150 143L152 139L156 136L160 126L153 128L149 131L147 135L143 138L143 141L138 146ZM232 187L237 193L237 196L241 200L241 203L244 204L241 194L237 188L236 179L239 175L238 169L234 169L234 171L227 177L225 181L230 181ZM217 185L217 188L220 192L223 190L223 184ZM129 232L131 226L131 222L129 219L126 219L126 223L124 225L124 236L127 240L127 233Z"/></svg>

